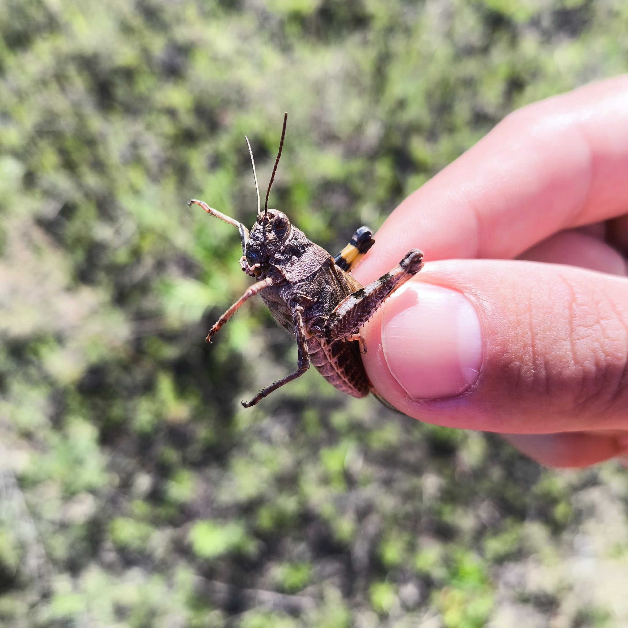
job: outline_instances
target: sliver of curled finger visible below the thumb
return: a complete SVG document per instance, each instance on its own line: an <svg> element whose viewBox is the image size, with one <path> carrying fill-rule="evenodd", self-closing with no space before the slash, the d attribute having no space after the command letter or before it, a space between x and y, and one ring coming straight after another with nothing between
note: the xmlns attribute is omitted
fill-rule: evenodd
<svg viewBox="0 0 628 628"><path fill-rule="evenodd" d="M628 449L628 432L602 435L590 432L558 434L502 434L511 445L548 467L587 467L615 458Z"/></svg>

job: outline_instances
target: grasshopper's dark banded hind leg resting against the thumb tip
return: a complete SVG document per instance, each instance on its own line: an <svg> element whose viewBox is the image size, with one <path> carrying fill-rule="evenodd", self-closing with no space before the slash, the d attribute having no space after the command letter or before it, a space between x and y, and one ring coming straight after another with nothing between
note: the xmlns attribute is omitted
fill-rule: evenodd
<svg viewBox="0 0 628 628"><path fill-rule="evenodd" d="M396 288L423 268L423 253L412 249L393 270L344 298L325 323L325 338L342 340L359 330Z"/></svg>

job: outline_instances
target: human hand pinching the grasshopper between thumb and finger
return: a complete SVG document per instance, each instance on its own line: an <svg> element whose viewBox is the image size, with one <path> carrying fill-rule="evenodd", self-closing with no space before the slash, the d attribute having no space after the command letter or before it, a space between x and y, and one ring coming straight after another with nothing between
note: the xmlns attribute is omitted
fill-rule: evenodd
<svg viewBox="0 0 628 628"><path fill-rule="evenodd" d="M377 391L546 465L627 452L626 212L628 75L507 116L394 210L353 273L368 283L413 247L427 260L362 330Z"/></svg>

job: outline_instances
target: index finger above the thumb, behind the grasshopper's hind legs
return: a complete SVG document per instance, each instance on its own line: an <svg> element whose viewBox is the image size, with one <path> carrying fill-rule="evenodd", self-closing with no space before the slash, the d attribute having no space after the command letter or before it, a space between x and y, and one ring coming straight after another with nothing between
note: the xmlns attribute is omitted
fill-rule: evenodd
<svg viewBox="0 0 628 628"><path fill-rule="evenodd" d="M507 116L406 198L355 269L368 283L409 249L425 259L511 258L628 208L628 75Z"/></svg>

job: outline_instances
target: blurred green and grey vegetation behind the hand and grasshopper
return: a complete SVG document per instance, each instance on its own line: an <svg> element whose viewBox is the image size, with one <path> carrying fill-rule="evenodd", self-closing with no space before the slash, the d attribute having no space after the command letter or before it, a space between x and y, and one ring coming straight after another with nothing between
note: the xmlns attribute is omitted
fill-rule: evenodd
<svg viewBox="0 0 628 628"><path fill-rule="evenodd" d="M0 4L0 625L628 625L628 475L314 369L236 229L335 252L512 109L628 70L622 0ZM447 229L447 225L443 225Z"/></svg>

